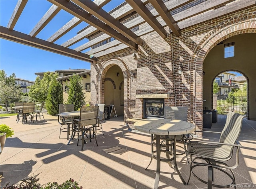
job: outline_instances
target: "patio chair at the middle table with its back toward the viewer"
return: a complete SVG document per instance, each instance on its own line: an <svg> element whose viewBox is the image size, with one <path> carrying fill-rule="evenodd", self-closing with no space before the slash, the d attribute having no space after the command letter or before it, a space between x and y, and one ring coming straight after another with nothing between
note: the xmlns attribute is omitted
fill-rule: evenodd
<svg viewBox="0 0 256 189"><path fill-rule="evenodd" d="M96 125L99 124L98 110L99 106L82 106L80 108L80 118L74 119L74 122L77 122L77 124L75 124L75 127L73 128L73 135L78 132L77 146L79 144L79 138L82 136L82 150L84 150L84 144L86 143L86 140L90 140L91 142L93 138L95 138L96 144L98 146L95 132ZM81 135L79 135L80 132L82 133ZM84 135L86 138L84 138Z"/></svg>

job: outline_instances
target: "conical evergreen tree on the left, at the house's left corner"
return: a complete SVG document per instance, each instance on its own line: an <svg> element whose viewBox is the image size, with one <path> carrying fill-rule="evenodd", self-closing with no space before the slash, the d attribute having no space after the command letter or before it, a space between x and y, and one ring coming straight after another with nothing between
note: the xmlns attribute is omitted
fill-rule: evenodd
<svg viewBox="0 0 256 189"><path fill-rule="evenodd" d="M59 104L63 104L62 85L55 79L50 83L48 95L46 98L46 109L48 110L48 114L58 114Z"/></svg>

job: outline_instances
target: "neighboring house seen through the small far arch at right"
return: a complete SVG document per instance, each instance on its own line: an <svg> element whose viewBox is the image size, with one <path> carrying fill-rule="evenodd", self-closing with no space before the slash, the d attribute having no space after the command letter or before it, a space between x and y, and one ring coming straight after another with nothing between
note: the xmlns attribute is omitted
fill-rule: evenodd
<svg viewBox="0 0 256 189"><path fill-rule="evenodd" d="M228 95L232 92L232 89L240 88L240 81L236 81L236 74L224 72L218 75L215 78L215 81L218 83L218 95Z"/></svg>

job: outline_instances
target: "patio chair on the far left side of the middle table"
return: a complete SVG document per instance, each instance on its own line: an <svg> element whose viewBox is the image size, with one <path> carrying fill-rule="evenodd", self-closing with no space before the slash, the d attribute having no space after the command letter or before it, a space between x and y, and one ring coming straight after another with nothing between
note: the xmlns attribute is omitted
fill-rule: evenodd
<svg viewBox="0 0 256 189"><path fill-rule="evenodd" d="M63 112L73 112L74 111L74 104L59 104L59 114L58 114L58 122L60 126L60 134L61 132L67 132L67 140L70 133L70 125L72 124L72 120L68 117L60 116L60 113ZM62 126L67 125L67 127L62 128ZM60 138L60 136L59 136Z"/></svg>

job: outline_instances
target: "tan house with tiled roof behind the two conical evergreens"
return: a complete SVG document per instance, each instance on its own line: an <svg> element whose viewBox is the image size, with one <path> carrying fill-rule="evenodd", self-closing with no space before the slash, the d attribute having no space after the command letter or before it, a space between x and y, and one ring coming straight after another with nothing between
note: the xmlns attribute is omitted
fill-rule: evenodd
<svg viewBox="0 0 256 189"><path fill-rule="evenodd" d="M75 73L72 75L79 75L82 77L82 85L83 85L83 92L85 94L85 101L86 103L89 103L91 101L91 77L90 77L90 70L82 71L80 73ZM58 77L57 80L62 83L62 89L63 89L63 98L64 102L68 99L68 86L70 80L69 78L72 75L66 75L62 77Z"/></svg>

